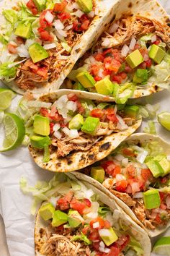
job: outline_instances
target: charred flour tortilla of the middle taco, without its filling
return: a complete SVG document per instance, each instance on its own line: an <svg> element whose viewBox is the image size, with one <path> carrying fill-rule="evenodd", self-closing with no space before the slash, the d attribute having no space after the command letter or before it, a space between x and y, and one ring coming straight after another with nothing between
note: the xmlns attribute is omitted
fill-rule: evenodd
<svg viewBox="0 0 170 256"><path fill-rule="evenodd" d="M72 93L72 90L67 90L67 94ZM54 102L57 98L61 97L61 95L65 95L66 91L58 90L56 93L50 93L47 95L43 95L40 100L45 102ZM84 92L79 92L79 98L86 98ZM89 98L87 98L89 99ZM97 99L100 101L100 98ZM125 140L128 136L132 135L138 127L140 127L141 119L135 121L131 127L127 130L112 133L109 136L104 137L102 140L93 145L93 147L88 151L76 151L70 153L65 158L58 158L57 153L52 153L50 155L50 161L48 163L43 163L43 153L40 150L36 150L29 146L30 153L35 163L41 168L44 168L48 171L57 171L57 172L68 172L68 171L76 171L86 166L95 163L102 158L109 155L112 150L115 150L120 143Z"/></svg>

